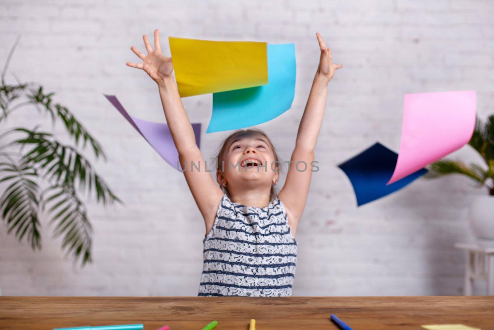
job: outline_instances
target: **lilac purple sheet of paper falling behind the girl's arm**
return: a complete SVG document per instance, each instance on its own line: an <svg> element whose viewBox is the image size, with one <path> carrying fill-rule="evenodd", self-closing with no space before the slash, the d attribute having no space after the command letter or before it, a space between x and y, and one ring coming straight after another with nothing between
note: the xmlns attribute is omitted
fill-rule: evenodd
<svg viewBox="0 0 494 330"><path fill-rule="evenodd" d="M165 161L173 168L179 170L178 151L173 143L168 125L162 123L153 123L131 116L125 111L124 107L115 95L106 95L106 98L119 110L124 118L132 125L137 132L155 149ZM201 124L192 124L192 129L196 136L197 146L200 147L201 141Z"/></svg>

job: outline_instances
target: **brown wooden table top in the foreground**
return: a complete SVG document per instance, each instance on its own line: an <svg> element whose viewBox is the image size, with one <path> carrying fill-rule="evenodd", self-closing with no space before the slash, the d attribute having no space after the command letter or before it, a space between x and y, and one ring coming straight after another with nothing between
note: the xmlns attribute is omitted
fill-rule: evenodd
<svg viewBox="0 0 494 330"><path fill-rule="evenodd" d="M461 323L494 330L494 296L396 297L0 297L0 329L144 324L144 330L419 330Z"/></svg>

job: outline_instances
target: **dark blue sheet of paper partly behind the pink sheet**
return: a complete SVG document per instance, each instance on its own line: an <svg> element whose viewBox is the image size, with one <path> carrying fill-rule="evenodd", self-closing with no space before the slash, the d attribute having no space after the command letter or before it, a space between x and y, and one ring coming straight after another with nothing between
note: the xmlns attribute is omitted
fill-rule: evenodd
<svg viewBox="0 0 494 330"><path fill-rule="evenodd" d="M395 170L398 154L379 142L355 157L338 165L352 183L357 205L389 195L421 177L427 170L422 168L409 176L386 186Z"/></svg>

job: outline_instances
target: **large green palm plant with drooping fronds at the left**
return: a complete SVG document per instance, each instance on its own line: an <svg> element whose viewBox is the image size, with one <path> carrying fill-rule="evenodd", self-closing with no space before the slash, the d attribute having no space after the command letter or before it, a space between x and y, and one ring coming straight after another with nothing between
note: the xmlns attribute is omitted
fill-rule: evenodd
<svg viewBox="0 0 494 330"><path fill-rule="evenodd" d="M93 156L106 159L101 144L65 106L55 103L35 83L5 82L5 72L19 38L5 62L0 80L0 218L7 234L24 238L33 250L41 249L41 218L54 225L54 236L62 236L62 249L74 261L91 262L92 226L82 195L95 196L108 205L120 202L98 175L82 150L89 146ZM14 76L15 77L15 76ZM27 106L60 122L69 142L40 128L9 127L6 120ZM29 111L29 110L28 110Z"/></svg>

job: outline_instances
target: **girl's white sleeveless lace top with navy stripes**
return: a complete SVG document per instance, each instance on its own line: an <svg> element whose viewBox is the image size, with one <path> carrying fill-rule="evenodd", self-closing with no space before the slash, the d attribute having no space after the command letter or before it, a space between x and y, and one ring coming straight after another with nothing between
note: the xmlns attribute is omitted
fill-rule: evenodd
<svg viewBox="0 0 494 330"><path fill-rule="evenodd" d="M276 196L268 206L221 199L204 240L199 296L290 296L297 242Z"/></svg>

